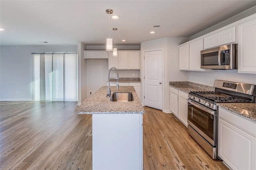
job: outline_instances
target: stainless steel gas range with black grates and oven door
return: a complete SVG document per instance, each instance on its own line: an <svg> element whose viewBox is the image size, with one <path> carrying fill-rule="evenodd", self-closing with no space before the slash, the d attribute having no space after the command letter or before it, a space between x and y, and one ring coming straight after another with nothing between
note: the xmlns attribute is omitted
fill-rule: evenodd
<svg viewBox="0 0 256 170"><path fill-rule="evenodd" d="M215 91L188 93L188 133L213 158L218 158L218 106L216 103L253 103L256 87L215 80Z"/></svg>

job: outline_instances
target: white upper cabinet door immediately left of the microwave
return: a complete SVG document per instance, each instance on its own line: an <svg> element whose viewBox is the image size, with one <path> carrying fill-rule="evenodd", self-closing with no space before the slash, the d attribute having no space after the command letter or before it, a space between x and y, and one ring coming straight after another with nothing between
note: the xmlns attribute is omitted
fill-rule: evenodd
<svg viewBox="0 0 256 170"><path fill-rule="evenodd" d="M189 44L189 69L190 70L204 70L201 69L201 50L203 50L203 39Z"/></svg>

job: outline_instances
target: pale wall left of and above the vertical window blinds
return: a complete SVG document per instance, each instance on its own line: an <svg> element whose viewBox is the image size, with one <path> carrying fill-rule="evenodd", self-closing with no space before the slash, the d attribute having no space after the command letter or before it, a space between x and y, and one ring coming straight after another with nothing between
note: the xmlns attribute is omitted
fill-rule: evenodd
<svg viewBox="0 0 256 170"><path fill-rule="evenodd" d="M1 45L0 100L31 100L31 53L77 52L75 45ZM17 93L18 92L18 93Z"/></svg>

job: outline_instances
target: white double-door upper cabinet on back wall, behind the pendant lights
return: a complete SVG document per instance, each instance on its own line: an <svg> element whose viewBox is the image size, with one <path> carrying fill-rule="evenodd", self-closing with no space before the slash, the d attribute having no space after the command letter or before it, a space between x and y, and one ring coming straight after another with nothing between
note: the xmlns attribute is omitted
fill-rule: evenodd
<svg viewBox="0 0 256 170"><path fill-rule="evenodd" d="M109 53L108 69L140 69L140 51L118 51L118 56Z"/></svg>

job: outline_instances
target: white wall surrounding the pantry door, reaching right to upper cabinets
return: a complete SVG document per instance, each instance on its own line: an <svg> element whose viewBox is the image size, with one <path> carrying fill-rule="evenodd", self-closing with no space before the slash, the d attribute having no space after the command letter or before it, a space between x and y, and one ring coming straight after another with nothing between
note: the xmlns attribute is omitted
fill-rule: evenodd
<svg viewBox="0 0 256 170"><path fill-rule="evenodd" d="M144 51L152 49L163 49L163 108L164 112L170 112L170 89L169 81L188 81L188 72L179 70L179 47L188 38L160 38L142 42L141 51L141 77L144 76ZM144 96L144 79L142 79L142 96ZM142 101L144 103L144 101Z"/></svg>

